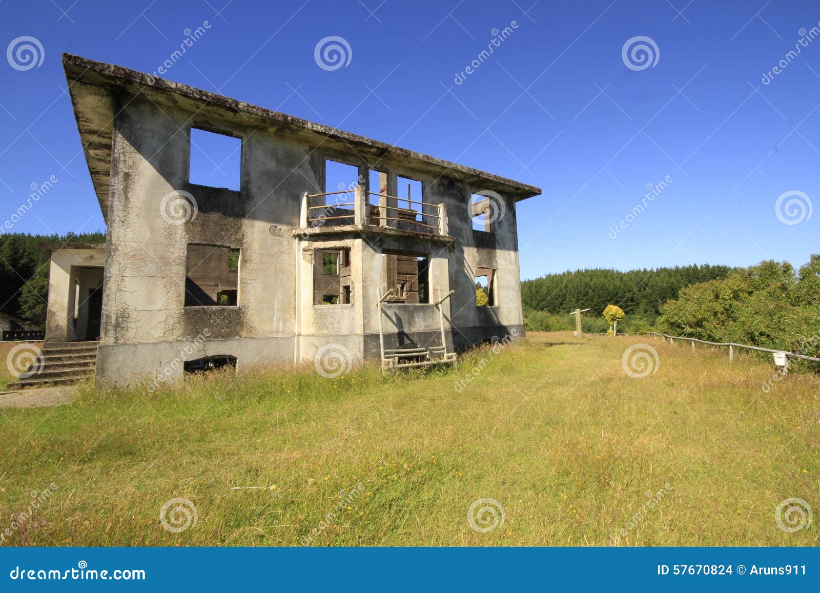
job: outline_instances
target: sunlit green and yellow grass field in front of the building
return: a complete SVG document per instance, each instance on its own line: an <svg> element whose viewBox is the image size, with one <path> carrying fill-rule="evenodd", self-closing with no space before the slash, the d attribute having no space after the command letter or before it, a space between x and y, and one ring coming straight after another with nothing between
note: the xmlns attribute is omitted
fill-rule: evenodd
<svg viewBox="0 0 820 593"><path fill-rule="evenodd" d="M638 342L645 378L622 368ZM792 497L820 512L817 376L766 392L761 359L646 337L497 349L424 376L260 368L0 409L4 545L818 544L816 521L775 521ZM175 498L197 513L181 532L160 521ZM503 506L486 532L467 518L484 498Z"/></svg>

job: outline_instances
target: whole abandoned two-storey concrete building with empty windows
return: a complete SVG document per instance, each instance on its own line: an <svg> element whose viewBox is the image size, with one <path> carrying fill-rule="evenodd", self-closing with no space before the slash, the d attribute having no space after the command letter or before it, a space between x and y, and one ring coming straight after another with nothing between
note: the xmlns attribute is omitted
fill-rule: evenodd
<svg viewBox="0 0 820 593"><path fill-rule="evenodd" d="M539 188L121 66L63 66L107 236L43 246L47 359L74 347L127 384L328 344L401 366L523 335L516 203ZM191 182L199 130L236 139L238 187ZM331 185L339 165L351 185Z"/></svg>

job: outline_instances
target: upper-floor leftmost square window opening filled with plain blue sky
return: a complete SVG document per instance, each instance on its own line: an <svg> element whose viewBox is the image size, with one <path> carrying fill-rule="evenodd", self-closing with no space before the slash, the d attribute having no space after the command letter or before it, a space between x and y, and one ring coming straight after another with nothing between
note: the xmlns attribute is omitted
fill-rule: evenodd
<svg viewBox="0 0 820 593"><path fill-rule="evenodd" d="M191 128L189 181L239 191L242 139Z"/></svg>

